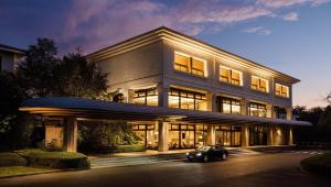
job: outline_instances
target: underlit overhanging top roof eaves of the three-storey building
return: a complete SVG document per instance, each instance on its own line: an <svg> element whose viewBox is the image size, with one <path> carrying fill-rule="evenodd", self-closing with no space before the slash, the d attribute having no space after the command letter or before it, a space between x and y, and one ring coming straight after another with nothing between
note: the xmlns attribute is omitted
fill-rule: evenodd
<svg viewBox="0 0 331 187"><path fill-rule="evenodd" d="M135 36L135 37L128 38L124 42L111 45L109 47L102 48L99 51L90 53L87 55L87 58L89 58L90 61L94 61L94 62L99 62L105 58L109 58L111 56L119 55L121 53L126 53L128 51L154 43L160 40L172 41L172 42L175 42L175 43L179 43L182 45L190 46L191 48L202 51L206 54L214 55L214 56L223 58L223 59L231 59L232 63L257 70L259 73L264 73L266 75L276 77L278 79L285 80L290 84L296 84L296 82L300 81L299 79L297 79L295 77L291 77L289 75L280 73L278 70L275 70L273 68L269 68L267 66L264 66L264 65L253 62L250 59L244 58L242 56L238 56L236 54L227 52L217 46L213 46L203 41L184 35L180 32L177 32L177 31L171 30L166 26L158 28L156 30L149 31L147 33L140 34L138 36Z"/></svg>

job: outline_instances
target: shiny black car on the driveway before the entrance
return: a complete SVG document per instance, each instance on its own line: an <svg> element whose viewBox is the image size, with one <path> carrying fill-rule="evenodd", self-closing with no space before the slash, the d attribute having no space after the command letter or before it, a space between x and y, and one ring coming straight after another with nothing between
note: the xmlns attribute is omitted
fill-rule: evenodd
<svg viewBox="0 0 331 187"><path fill-rule="evenodd" d="M200 146L193 152L186 153L186 158L192 161L207 162L212 160L226 160L228 156L227 150L218 145Z"/></svg>

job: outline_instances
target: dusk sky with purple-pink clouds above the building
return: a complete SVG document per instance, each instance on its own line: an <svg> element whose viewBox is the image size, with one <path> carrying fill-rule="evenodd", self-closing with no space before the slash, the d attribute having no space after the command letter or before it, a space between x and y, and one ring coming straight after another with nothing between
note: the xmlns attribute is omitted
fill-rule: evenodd
<svg viewBox="0 0 331 187"><path fill-rule="evenodd" d="M164 25L299 78L293 106L331 91L331 0L0 0L0 18L1 44L50 37L61 54Z"/></svg>

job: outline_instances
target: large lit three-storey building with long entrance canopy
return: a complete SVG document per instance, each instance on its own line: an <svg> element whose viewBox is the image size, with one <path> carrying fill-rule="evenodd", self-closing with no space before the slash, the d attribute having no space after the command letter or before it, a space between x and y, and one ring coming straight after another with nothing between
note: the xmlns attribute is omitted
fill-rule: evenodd
<svg viewBox="0 0 331 187"><path fill-rule="evenodd" d="M79 119L127 120L141 143L159 151L291 145L293 127L310 125L292 119L297 78L168 28L87 57L109 74L116 102L41 98L21 108L63 119L66 151L76 148Z"/></svg>

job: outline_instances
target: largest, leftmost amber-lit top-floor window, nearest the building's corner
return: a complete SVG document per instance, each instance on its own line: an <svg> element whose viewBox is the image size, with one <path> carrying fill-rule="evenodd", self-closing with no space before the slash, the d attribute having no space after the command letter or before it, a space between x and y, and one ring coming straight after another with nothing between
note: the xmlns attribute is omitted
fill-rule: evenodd
<svg viewBox="0 0 331 187"><path fill-rule="evenodd" d="M206 76L205 65L206 62L196 57L175 52L174 53L174 65L175 70L184 72L201 77Z"/></svg>

